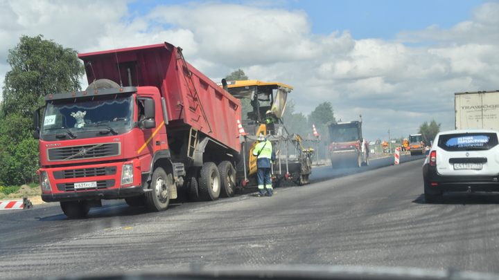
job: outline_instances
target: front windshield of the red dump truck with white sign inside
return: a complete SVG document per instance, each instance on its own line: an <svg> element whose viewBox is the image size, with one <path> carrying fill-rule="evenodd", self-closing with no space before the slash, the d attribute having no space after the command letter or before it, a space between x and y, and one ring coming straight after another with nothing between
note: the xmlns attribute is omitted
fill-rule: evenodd
<svg viewBox="0 0 499 280"><path fill-rule="evenodd" d="M132 95L49 101L45 106L41 135L67 133L71 138L88 138L87 131L103 129L113 134L124 133L132 127L133 104Z"/></svg>

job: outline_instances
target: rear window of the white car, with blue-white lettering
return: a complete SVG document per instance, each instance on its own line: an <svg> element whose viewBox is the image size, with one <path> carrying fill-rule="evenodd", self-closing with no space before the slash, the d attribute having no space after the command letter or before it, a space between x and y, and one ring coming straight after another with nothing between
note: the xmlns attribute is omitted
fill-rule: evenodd
<svg viewBox="0 0 499 280"><path fill-rule="evenodd" d="M446 151L488 150L497 144L497 133L446 134L438 140L438 147Z"/></svg>

